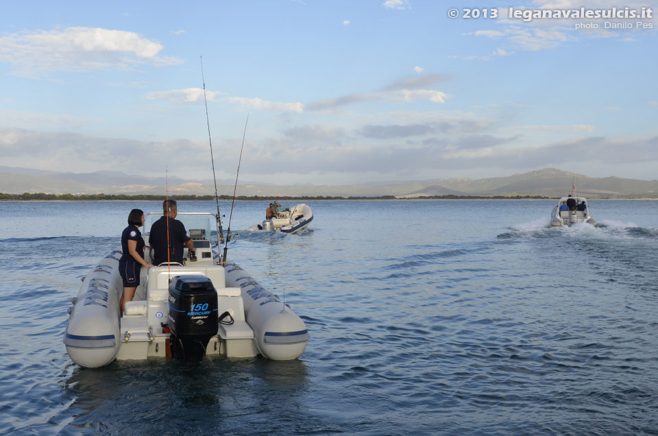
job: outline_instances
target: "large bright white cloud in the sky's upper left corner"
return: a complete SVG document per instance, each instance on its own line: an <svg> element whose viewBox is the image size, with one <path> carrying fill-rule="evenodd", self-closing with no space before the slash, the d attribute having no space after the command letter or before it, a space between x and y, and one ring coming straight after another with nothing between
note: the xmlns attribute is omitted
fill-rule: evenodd
<svg viewBox="0 0 658 436"><path fill-rule="evenodd" d="M12 64L13 73L25 77L53 71L129 70L136 64L182 63L160 55L162 49L157 41L134 32L92 27L0 36L0 62Z"/></svg>

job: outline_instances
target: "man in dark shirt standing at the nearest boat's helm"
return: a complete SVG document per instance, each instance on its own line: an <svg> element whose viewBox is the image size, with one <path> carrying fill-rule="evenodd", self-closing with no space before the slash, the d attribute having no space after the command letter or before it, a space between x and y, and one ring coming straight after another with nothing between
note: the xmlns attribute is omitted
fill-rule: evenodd
<svg viewBox="0 0 658 436"><path fill-rule="evenodd" d="M194 243L185 230L182 222L176 219L178 206L176 201L166 199L162 202L162 217L151 226L149 245L153 249L153 263L183 264L183 245L187 245L190 253L195 252ZM169 230L169 231L167 231ZM192 257L192 256L190 256Z"/></svg>

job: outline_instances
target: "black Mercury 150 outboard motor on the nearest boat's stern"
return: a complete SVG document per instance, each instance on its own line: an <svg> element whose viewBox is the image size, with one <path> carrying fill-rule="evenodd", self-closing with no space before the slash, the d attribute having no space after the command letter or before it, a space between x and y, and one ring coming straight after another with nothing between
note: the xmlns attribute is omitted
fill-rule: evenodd
<svg viewBox="0 0 658 436"><path fill-rule="evenodd" d="M206 276L175 276L169 284L171 356L199 362L217 335L217 291Z"/></svg>

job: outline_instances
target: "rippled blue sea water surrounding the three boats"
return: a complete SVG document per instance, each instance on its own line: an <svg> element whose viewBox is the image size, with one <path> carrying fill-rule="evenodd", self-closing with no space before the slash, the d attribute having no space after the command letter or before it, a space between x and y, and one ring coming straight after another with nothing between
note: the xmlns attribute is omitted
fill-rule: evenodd
<svg viewBox="0 0 658 436"><path fill-rule="evenodd" d="M658 434L658 202L549 229L554 203L308 202L286 235L245 230L266 204L241 202L229 256L285 292L301 358L88 370L66 309L130 209L160 204L1 202L0 434Z"/></svg>

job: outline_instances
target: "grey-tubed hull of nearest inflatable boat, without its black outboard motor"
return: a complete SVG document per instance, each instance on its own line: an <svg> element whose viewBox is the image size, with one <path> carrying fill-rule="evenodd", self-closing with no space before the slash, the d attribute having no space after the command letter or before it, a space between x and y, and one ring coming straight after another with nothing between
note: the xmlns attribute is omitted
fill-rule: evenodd
<svg viewBox="0 0 658 436"><path fill-rule="evenodd" d="M171 334L166 328L171 308L169 278L191 275L210 278L217 291L217 313L230 314L223 324L220 319L217 335L206 347L207 355L242 358L260 354L272 360L291 360L306 349L309 336L302 319L232 262L143 268L136 300L126 303L120 317L123 282L119 258L120 248L101 259L73 299L64 344L77 365L101 367L114 359L171 356Z"/></svg>

